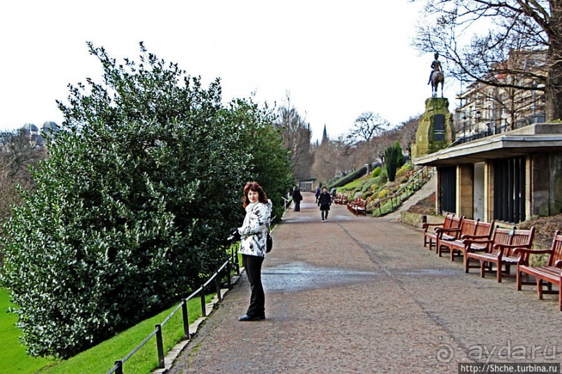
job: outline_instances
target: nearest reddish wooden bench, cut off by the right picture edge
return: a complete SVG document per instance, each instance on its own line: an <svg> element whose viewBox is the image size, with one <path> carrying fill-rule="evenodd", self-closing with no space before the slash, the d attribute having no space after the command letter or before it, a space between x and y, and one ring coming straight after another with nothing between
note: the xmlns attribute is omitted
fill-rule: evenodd
<svg viewBox="0 0 562 374"><path fill-rule="evenodd" d="M521 291L522 284L533 284L532 282L522 281L524 275L531 275L535 278L537 284L539 300L543 299L543 293L558 293L558 309L562 311L562 235L560 231L554 233L549 250L517 248L514 252L520 255L517 262L517 291ZM540 267L529 266L529 255L531 254L548 254L547 265ZM543 291L545 282L547 284L547 291ZM553 284L558 286L558 291L552 291Z"/></svg>

